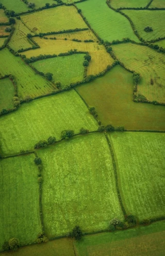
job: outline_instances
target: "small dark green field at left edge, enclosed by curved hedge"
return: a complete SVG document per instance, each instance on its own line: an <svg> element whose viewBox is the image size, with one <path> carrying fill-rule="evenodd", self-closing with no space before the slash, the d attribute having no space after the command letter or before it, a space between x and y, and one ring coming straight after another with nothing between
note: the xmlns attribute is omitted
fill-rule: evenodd
<svg viewBox="0 0 165 256"><path fill-rule="evenodd" d="M13 108L14 86L9 78L0 79L0 111Z"/></svg>

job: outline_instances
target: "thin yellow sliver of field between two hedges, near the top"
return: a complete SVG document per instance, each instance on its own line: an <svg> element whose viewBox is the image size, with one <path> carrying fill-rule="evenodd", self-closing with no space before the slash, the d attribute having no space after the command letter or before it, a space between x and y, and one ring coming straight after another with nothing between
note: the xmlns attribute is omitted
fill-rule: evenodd
<svg viewBox="0 0 165 256"><path fill-rule="evenodd" d="M47 38L56 37L57 39L67 38L68 40L78 39L78 40L82 40L82 41L92 39L94 42L98 41L97 37L93 34L93 32L91 30L50 35L50 36L46 36L46 37Z"/></svg>

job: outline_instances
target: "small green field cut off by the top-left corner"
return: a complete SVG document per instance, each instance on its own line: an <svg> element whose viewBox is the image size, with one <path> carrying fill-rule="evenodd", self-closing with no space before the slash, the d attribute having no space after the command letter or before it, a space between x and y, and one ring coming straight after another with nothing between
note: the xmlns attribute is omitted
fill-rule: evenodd
<svg viewBox="0 0 165 256"><path fill-rule="evenodd" d="M3 4L7 10L13 10L15 13L28 11L30 9L21 0L1 0L1 4Z"/></svg>

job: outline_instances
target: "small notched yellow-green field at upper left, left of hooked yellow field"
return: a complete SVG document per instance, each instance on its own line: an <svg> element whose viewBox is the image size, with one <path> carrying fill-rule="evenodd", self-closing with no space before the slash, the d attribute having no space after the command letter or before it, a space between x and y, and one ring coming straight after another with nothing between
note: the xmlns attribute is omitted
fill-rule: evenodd
<svg viewBox="0 0 165 256"><path fill-rule="evenodd" d="M9 41L9 46L14 51L32 47L34 44L27 38L28 33L31 33L31 31L27 29L21 20L17 20L14 33Z"/></svg>

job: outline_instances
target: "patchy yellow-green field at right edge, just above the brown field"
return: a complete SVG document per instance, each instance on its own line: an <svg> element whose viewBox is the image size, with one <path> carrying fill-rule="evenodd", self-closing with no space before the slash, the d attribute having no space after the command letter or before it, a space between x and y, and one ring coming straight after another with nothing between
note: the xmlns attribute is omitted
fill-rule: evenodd
<svg viewBox="0 0 165 256"><path fill-rule="evenodd" d="M164 54L149 47L129 43L114 45L112 49L126 67L140 73L138 93L144 95L149 101L164 103ZM153 85L151 79L153 79Z"/></svg>

